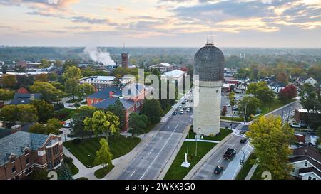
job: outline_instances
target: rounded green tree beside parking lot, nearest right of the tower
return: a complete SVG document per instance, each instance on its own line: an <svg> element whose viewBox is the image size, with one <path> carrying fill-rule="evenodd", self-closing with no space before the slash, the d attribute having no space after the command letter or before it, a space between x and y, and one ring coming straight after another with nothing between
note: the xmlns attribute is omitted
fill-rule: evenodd
<svg viewBox="0 0 321 194"><path fill-rule="evenodd" d="M238 109L240 110L240 117L244 117L245 107L246 107L246 115L245 118L251 117L251 115L255 115L258 112L258 107L260 105L260 101L256 97L243 97L240 102L238 102Z"/></svg>

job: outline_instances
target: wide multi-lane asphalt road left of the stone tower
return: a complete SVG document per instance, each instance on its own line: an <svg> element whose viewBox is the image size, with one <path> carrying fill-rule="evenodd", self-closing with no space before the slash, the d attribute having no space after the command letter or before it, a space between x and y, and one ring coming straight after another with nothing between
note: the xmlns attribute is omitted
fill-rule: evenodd
<svg viewBox="0 0 321 194"><path fill-rule="evenodd" d="M165 164L190 124L190 113L177 114L161 124L159 131L146 147L128 164L118 176L120 180L155 180L161 174Z"/></svg>

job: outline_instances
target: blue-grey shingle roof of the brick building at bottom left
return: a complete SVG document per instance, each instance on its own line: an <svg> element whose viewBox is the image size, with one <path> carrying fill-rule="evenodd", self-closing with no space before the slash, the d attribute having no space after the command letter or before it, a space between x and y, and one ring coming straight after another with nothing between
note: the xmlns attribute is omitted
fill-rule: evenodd
<svg viewBox="0 0 321 194"><path fill-rule="evenodd" d="M47 135L31 134L24 131L18 131L9 136L0 139L0 165L8 161L9 156L14 154L19 157L24 154L24 148L33 150L39 149L46 139Z"/></svg>

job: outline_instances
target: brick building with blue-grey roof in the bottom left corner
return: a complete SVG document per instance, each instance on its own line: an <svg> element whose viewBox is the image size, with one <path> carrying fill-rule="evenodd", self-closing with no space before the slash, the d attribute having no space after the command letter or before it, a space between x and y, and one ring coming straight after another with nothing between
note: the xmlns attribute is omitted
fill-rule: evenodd
<svg viewBox="0 0 321 194"><path fill-rule="evenodd" d="M21 179L38 169L56 169L62 161L60 136L18 131L0 139L0 180Z"/></svg>

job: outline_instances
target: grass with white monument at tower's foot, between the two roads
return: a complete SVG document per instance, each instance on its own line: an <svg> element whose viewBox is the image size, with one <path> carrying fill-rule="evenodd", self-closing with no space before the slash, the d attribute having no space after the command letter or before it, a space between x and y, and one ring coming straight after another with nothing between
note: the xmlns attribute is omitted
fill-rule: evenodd
<svg viewBox="0 0 321 194"><path fill-rule="evenodd" d="M204 139L206 140L213 140L213 141L221 141L225 138L225 136L228 136L232 131L227 129L220 129L220 134L217 136L204 136ZM193 132L193 129L190 129L189 135L186 136L186 139L195 139L195 133ZM201 158L203 158L208 151L213 149L213 147L216 144L208 143L208 142L200 142L198 141L198 156L195 156L195 150L196 150L196 142L195 141L185 141L180 147L180 151L178 151L178 154L173 161L172 165L168 169L168 172L166 173L164 180L183 180L183 178L188 174L190 169L195 166L198 161L200 161ZM189 168L181 167L180 165L183 163L185 159L185 153L188 149L188 162L190 163Z"/></svg>

